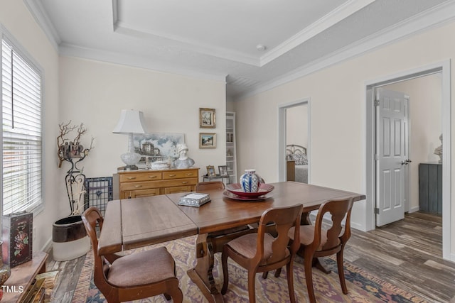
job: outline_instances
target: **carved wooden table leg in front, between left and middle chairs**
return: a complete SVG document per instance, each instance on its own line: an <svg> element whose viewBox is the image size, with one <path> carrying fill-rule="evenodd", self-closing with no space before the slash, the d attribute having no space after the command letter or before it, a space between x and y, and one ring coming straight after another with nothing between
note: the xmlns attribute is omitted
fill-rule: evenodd
<svg viewBox="0 0 455 303"><path fill-rule="evenodd" d="M207 233L198 235L196 239L196 267L188 270L187 274L198 285L209 302L223 302L223 296L218 292L215 280L213 280L214 253L210 241L207 241L207 236Z"/></svg>

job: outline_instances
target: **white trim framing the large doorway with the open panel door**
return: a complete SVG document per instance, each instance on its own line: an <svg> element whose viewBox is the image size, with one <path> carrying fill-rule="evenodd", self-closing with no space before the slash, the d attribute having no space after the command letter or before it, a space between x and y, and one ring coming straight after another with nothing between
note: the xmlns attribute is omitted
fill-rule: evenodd
<svg viewBox="0 0 455 303"><path fill-rule="evenodd" d="M372 97L371 91L374 87L379 87L385 84L412 79L415 77L422 77L424 75L431 75L434 72L441 72L442 74L442 133L444 136L444 144L442 146L442 153L444 156L444 165L442 165L442 258L446 260L455 261L455 255L451 253L451 60L444 60L434 64L417 67L412 70L398 72L394 75L388 75L366 81L364 83L364 98L366 102L366 125L367 132L365 133L366 143L366 170L365 179L368 180L366 184L366 209L365 209L365 230L375 228L375 214L372 211L374 207L375 185L374 185L374 155L371 153L372 146L374 145L374 136L371 133L374 128L374 115L373 106L370 105ZM414 209L413 209L414 210ZM415 210L414 210L415 211Z"/></svg>

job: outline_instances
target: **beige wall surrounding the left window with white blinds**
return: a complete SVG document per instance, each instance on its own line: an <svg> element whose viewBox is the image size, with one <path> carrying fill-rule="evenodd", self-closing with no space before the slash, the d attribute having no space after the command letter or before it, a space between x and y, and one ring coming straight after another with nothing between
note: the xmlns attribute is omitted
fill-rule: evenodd
<svg viewBox="0 0 455 303"><path fill-rule="evenodd" d="M43 211L33 216L33 250L42 250L50 244L52 222L69 214L68 198L60 186L61 175L57 168L55 138L58 133L58 54L48 42L41 28L26 9L23 1L1 0L0 23L14 39L33 57L44 72L43 77L43 157L44 204ZM1 30L0 30L1 31ZM59 186L57 186L57 184Z"/></svg>

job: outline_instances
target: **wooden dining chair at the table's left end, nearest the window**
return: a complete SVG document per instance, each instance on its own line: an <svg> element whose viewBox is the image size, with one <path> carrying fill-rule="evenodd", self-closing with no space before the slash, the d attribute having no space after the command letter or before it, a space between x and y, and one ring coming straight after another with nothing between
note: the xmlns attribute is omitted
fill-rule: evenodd
<svg viewBox="0 0 455 303"><path fill-rule="evenodd" d="M182 302L178 287L176 264L166 247L144 250L119 257L98 255L96 229L102 229L103 218L96 207L82 214L85 230L92 241L94 261L93 280L107 302L124 302L164 294L166 299Z"/></svg>

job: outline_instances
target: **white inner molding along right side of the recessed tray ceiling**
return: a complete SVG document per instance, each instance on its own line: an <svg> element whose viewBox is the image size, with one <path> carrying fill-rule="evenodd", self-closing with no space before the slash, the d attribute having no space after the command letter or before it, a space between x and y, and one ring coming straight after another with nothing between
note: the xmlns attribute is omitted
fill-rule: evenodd
<svg viewBox="0 0 455 303"><path fill-rule="evenodd" d="M368 4L371 4L374 1L375 0L350 0L343 5L338 6L338 8L331 11L331 13L328 13L326 16L323 16L318 21L312 23L311 26L304 28L303 31L296 33L296 35L285 40L277 47L269 50L266 54L262 55L262 57L260 57L260 66L264 66L277 57L284 55L285 53L289 52L289 50L292 50L296 46L301 45L307 40L310 40L314 36L325 31L327 28L330 28L336 23L342 21L344 18L347 18L356 11L363 9L365 6L368 6Z"/></svg>

